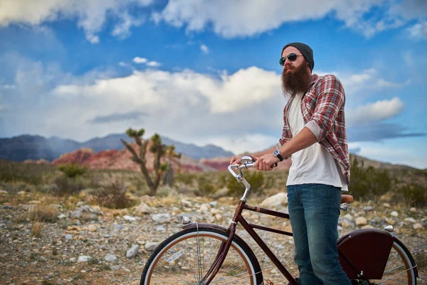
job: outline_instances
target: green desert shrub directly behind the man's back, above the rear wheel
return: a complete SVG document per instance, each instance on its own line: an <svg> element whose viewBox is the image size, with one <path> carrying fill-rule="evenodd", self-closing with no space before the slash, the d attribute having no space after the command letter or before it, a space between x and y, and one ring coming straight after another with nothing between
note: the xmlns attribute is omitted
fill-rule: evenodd
<svg viewBox="0 0 427 285"><path fill-rule="evenodd" d="M364 167L364 163L359 164L354 157L350 171L352 176L349 190L355 199L373 199L391 189L392 179L388 170Z"/></svg>

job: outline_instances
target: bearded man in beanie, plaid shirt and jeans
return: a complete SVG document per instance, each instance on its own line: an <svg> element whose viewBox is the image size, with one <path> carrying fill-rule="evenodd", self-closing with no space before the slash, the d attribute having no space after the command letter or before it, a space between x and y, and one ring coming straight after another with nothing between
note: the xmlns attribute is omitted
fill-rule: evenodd
<svg viewBox="0 0 427 285"><path fill-rule="evenodd" d="M312 74L313 52L305 43L288 43L281 56L282 87L289 97L283 134L275 147L253 155L255 169L272 170L275 162L292 155L286 185L301 284L351 284L336 245L350 168L344 89L333 75ZM234 163L240 159L233 157Z"/></svg>

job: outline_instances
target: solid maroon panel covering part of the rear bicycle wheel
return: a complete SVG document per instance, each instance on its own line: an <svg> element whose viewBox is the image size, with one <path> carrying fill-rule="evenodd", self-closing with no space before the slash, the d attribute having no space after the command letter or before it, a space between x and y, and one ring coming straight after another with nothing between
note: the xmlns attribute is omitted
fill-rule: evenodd
<svg viewBox="0 0 427 285"><path fill-rule="evenodd" d="M339 262L349 279L360 279L360 274L381 279L394 240L379 229L359 229L338 239Z"/></svg>

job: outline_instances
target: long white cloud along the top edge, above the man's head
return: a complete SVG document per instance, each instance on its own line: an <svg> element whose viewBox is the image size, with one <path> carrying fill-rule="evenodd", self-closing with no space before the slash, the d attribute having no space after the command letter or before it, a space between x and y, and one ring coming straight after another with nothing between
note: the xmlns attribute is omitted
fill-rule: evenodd
<svg viewBox="0 0 427 285"><path fill-rule="evenodd" d="M234 38L270 31L286 22L333 16L343 21L344 26L371 37L379 31L403 26L410 19L425 17L425 13L416 9L417 3L389 3L387 0L300 0L295 3L283 0L262 3L258 0L170 0L162 12L152 14L152 19L156 23L165 21L177 27L186 26L188 32L203 31L211 26L215 33ZM381 20L375 13L369 14L374 8L384 10Z"/></svg>

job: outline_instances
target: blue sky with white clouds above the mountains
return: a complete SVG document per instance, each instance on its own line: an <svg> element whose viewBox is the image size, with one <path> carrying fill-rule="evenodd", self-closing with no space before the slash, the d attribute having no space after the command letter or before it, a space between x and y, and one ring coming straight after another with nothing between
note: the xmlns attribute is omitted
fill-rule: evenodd
<svg viewBox="0 0 427 285"><path fill-rule="evenodd" d="M425 0L0 0L0 138L264 150L293 41L342 82L351 152L427 167Z"/></svg>

